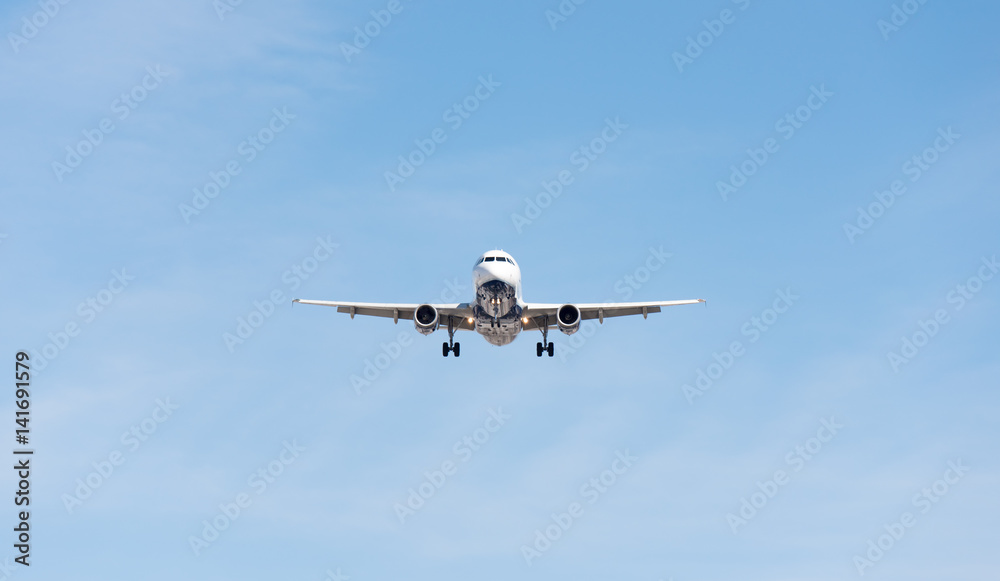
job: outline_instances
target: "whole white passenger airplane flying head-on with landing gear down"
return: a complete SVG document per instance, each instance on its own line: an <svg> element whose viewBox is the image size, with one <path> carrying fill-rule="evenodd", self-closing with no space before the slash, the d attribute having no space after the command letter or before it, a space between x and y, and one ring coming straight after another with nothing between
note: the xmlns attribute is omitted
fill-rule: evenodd
<svg viewBox="0 0 1000 581"><path fill-rule="evenodd" d="M502 250L484 253L472 268L472 284L476 298L471 303L414 304L414 303L349 303L342 301L312 301L294 299L303 305L336 307L338 313L392 317L413 320L417 331L430 335L438 327L448 329L448 341L441 345L441 354L459 356L460 346L455 342L456 331L475 330L493 345L508 345L521 331L538 329L542 340L535 346L538 357L555 353L549 342L549 329L557 328L566 335L580 329L580 321L597 319L604 324L605 317L642 315L660 312L660 307L692 305L704 299L682 301L653 301L639 303L526 303L521 297L521 269L514 257Z"/></svg>

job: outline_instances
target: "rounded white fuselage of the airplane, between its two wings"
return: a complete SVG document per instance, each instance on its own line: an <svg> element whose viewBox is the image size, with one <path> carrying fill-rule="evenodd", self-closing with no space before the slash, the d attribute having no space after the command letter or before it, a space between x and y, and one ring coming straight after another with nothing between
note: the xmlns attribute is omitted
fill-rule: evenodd
<svg viewBox="0 0 1000 581"><path fill-rule="evenodd" d="M521 332L524 300L521 297L521 269L501 250L479 257L472 268L476 299L472 318L476 332L494 345L507 345Z"/></svg>

